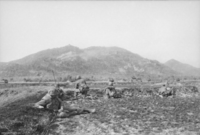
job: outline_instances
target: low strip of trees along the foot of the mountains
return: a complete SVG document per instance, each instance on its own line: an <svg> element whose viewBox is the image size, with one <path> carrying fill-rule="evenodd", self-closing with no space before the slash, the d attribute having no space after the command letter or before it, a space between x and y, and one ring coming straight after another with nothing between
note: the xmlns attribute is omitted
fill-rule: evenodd
<svg viewBox="0 0 200 135"><path fill-rule="evenodd" d="M77 79L75 75L57 75L55 78L53 76L37 74L36 76L24 76L24 77L0 77L0 81L3 83L5 80L8 82L75 82ZM108 81L109 78L101 78L100 76L82 76L86 81ZM160 83L160 82L179 82L179 81L191 81L191 80L200 80L200 77L194 76L141 76L133 75L130 78L115 78L115 81L122 82L149 82L149 83Z"/></svg>

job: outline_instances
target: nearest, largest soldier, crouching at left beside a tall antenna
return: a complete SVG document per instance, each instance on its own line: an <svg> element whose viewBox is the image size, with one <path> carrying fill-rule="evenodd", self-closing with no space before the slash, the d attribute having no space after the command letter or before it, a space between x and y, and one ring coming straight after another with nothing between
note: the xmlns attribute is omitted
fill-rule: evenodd
<svg viewBox="0 0 200 135"><path fill-rule="evenodd" d="M39 102L35 103L35 107L57 111L62 109L63 96L64 92L60 89L60 84L56 84L54 89L49 90Z"/></svg>

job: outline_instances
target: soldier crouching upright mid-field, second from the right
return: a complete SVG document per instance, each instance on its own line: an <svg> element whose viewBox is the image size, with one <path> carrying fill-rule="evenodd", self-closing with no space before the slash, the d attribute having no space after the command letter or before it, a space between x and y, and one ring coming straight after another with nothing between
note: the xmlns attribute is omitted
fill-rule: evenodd
<svg viewBox="0 0 200 135"><path fill-rule="evenodd" d="M115 87L114 87L114 79L110 79L108 82L108 87L105 89L106 98L114 97Z"/></svg>

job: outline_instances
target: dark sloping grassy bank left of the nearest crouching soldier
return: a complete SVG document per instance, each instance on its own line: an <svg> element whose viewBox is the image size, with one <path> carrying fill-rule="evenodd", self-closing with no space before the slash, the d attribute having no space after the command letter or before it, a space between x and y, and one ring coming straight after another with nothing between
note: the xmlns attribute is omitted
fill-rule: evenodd
<svg viewBox="0 0 200 135"><path fill-rule="evenodd" d="M53 113L32 106L45 94L44 87L21 87L1 90L8 98L0 109L0 134L29 135L44 133ZM14 93L14 94L13 94Z"/></svg>

